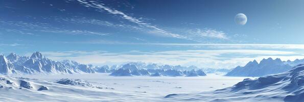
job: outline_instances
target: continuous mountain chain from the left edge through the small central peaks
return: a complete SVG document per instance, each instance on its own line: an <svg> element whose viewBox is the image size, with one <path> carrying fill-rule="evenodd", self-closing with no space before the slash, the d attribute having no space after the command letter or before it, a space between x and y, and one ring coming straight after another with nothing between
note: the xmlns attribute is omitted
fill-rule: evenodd
<svg viewBox="0 0 304 102"><path fill-rule="evenodd" d="M73 73L111 73L114 76L146 75L157 73L166 76L184 76L183 71L199 70L196 66L172 66L146 64L144 62L129 62L124 65L92 66L75 61L53 61L40 52L34 52L31 57L18 56L11 53L7 57L0 55L0 73L2 74L73 74ZM203 74L201 74L203 73ZM192 73L205 75L204 72Z"/></svg>

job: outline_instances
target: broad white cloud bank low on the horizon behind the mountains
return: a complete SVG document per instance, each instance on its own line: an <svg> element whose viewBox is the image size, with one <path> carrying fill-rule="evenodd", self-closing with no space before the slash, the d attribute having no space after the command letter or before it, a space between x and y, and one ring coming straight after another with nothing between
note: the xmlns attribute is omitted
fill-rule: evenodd
<svg viewBox="0 0 304 102"><path fill-rule="evenodd" d="M45 56L55 60L75 60L86 64L124 63L128 61L143 61L147 63L162 63L172 65L196 65L199 67L233 68L245 65L248 61L263 58L282 58L294 60L304 58L303 55L280 50L170 50L159 52L141 52L131 50L126 53L94 52L42 52Z"/></svg>

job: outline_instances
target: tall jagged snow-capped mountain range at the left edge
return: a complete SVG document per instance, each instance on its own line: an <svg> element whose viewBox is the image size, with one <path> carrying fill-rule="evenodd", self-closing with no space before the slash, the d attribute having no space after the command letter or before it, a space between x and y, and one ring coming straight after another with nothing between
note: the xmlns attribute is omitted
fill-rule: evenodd
<svg viewBox="0 0 304 102"><path fill-rule="evenodd" d="M20 57L14 53L8 57L0 56L3 74L62 74L62 73L95 73L92 65L79 64L75 61L53 61L45 58L40 52L35 52L31 57Z"/></svg>

